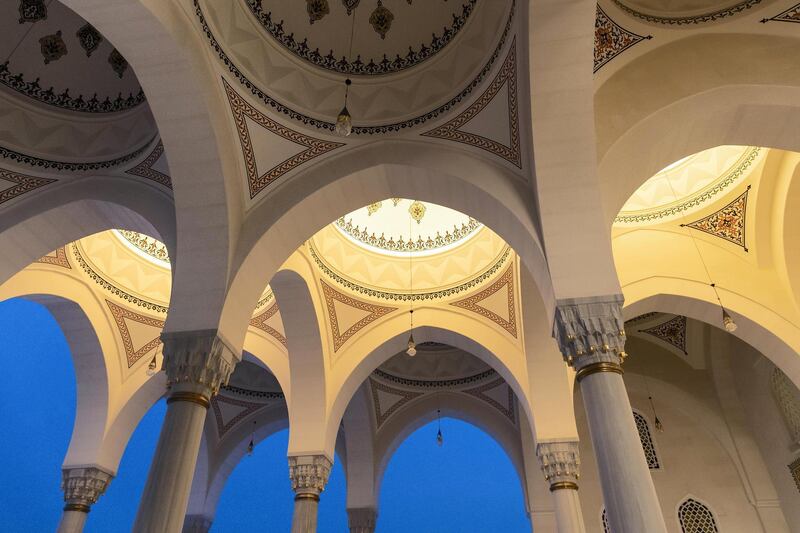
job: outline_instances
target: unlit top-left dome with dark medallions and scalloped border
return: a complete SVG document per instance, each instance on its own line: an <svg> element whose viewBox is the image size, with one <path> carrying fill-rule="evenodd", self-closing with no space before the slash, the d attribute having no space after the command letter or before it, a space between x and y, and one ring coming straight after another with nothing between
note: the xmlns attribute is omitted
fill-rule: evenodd
<svg viewBox="0 0 800 533"><path fill-rule="evenodd" d="M58 1L0 3L0 84L49 106L124 111L145 101L114 45Z"/></svg>

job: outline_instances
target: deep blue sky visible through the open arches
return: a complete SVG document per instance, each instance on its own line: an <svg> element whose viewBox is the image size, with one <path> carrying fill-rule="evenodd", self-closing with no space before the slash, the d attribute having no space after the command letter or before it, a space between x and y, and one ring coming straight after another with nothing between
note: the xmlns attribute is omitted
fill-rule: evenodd
<svg viewBox="0 0 800 533"><path fill-rule="evenodd" d="M61 463L75 419L75 372L69 347L44 307L0 303L6 393L0 396L3 531L54 531L61 516ZM130 531L166 405L154 405L134 432L117 477L89 514L86 531ZM522 488L511 461L481 430L442 420L423 426L397 450L380 495L379 533L528 532ZM286 466L288 432L259 444L233 471L220 498L213 532L288 532L292 492ZM334 465L320 503L319 532L347 531L345 477Z"/></svg>

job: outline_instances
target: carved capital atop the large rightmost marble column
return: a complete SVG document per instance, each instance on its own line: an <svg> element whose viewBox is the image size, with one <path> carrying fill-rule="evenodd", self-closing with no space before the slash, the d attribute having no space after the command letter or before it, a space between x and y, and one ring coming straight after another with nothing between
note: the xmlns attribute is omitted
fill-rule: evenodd
<svg viewBox="0 0 800 533"><path fill-rule="evenodd" d="M559 300L553 337L576 371L595 363L620 365L625 359L622 295Z"/></svg>

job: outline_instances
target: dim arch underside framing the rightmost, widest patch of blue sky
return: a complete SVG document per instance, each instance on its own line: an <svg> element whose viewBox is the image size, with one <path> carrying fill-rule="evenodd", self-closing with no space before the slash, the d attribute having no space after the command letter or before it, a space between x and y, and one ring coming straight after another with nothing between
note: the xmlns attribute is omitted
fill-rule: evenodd
<svg viewBox="0 0 800 533"><path fill-rule="evenodd" d="M443 417L455 418L466 422L480 429L494 440L500 448L503 449L509 461L511 461L517 473L517 480L520 483L520 490L522 491L520 494L524 494L525 468L518 429L514 429L514 435L516 436L516 441L514 441L512 435L508 434L508 431L511 429L508 422L504 422L497 411L486 406L480 400L470 398L465 394L442 391L427 395L420 401L409 405L408 408L396 414L392 419L389 419L386 425L381 428L384 435L386 432L390 432L391 438L388 442L379 440L375 448L376 501L380 501L380 489L383 484L383 477L395 452L409 436L424 425L437 419L437 409L441 409ZM506 435L503 434L504 430L506 431ZM384 444L384 446L381 446L381 444Z"/></svg>

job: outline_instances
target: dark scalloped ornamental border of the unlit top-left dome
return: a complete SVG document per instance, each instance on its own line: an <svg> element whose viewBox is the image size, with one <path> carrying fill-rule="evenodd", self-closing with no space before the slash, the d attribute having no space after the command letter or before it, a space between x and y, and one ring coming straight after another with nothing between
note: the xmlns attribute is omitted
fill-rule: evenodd
<svg viewBox="0 0 800 533"><path fill-rule="evenodd" d="M130 93L127 98L124 98L120 93L114 100L111 100L108 96L106 96L105 100L99 100L97 94L88 100L84 100L82 94L75 98L70 96L69 89L65 89L61 94L56 94L52 87L43 89L39 85L39 78L33 81L25 81L21 73L11 74L8 68L8 61L0 64L0 83L43 104L79 113L118 113L132 109L147 101L144 96L144 90L141 87L136 95Z"/></svg>

